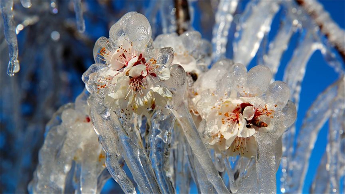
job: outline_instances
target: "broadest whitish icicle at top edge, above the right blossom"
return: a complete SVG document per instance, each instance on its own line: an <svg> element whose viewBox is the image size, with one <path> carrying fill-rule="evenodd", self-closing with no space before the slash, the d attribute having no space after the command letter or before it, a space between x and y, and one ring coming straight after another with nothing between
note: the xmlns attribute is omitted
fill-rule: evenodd
<svg viewBox="0 0 345 194"><path fill-rule="evenodd" d="M247 4L240 22L236 26L233 42L235 63L247 66L254 58L265 33L269 32L273 17L278 10L277 1L252 1Z"/></svg>

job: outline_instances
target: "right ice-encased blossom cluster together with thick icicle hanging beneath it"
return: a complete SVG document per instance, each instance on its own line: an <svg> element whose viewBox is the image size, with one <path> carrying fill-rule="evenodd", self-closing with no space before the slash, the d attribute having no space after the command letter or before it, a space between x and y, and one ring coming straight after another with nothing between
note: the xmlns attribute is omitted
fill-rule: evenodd
<svg viewBox="0 0 345 194"><path fill-rule="evenodd" d="M214 73L222 69L229 71L215 77ZM207 78L211 79L203 83ZM270 84L271 78L265 66L256 66L247 72L244 65L223 60L194 85L197 95L193 102L206 120L202 133L211 148L219 153L226 151L226 155L249 158L259 153L256 161L259 193L276 192L275 172L282 156L281 136L296 119L296 108L288 102L289 88L282 81ZM218 80L230 86L209 87L209 83ZM227 171L234 174L229 165ZM237 191L231 179L230 185L233 185L232 192Z"/></svg>

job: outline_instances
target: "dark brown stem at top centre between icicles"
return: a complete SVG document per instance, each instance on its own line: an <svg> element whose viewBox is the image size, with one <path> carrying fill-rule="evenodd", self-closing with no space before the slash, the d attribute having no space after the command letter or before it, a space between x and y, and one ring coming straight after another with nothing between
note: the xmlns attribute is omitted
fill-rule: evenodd
<svg viewBox="0 0 345 194"><path fill-rule="evenodd" d="M187 0L175 0L176 8L176 32L178 35L188 30L190 16Z"/></svg>

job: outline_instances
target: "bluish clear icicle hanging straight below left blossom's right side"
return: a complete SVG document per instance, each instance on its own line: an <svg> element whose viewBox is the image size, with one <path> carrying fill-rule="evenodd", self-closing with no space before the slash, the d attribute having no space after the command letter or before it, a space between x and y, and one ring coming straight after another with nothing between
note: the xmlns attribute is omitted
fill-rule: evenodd
<svg viewBox="0 0 345 194"><path fill-rule="evenodd" d="M175 193L169 181L166 171L166 164L169 155L168 144L170 143L169 134L175 124L175 117L169 110L157 110L151 120L151 146L150 159L156 173L158 183L162 193Z"/></svg>

